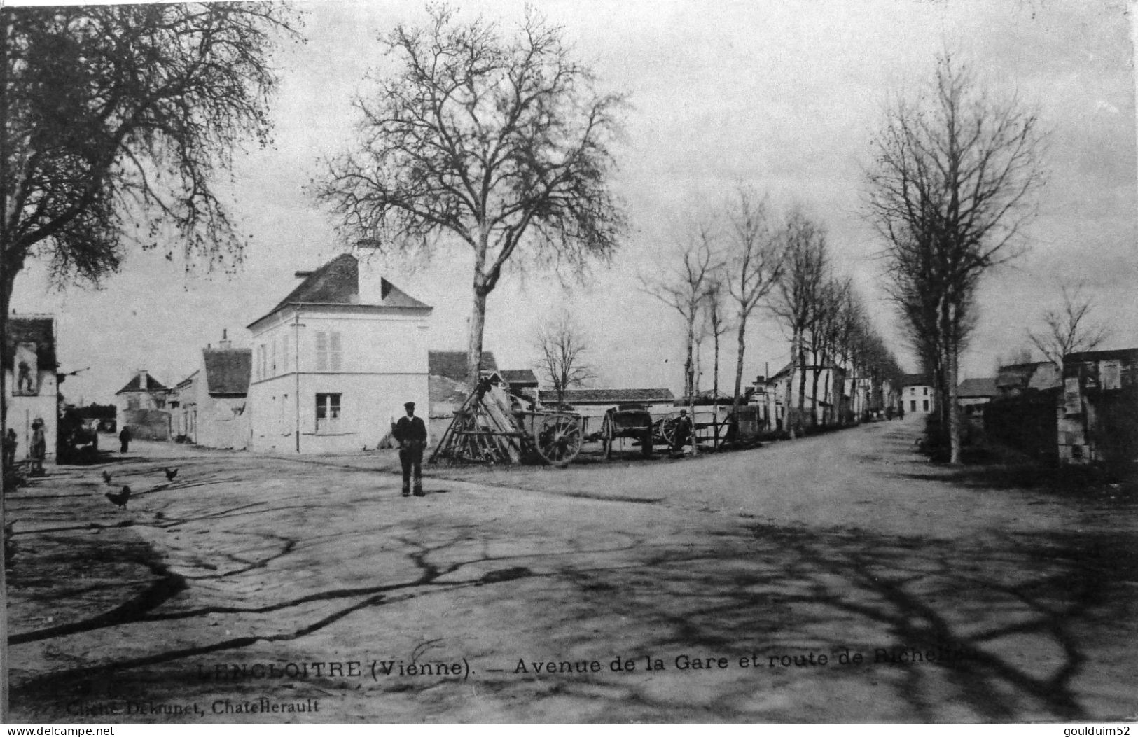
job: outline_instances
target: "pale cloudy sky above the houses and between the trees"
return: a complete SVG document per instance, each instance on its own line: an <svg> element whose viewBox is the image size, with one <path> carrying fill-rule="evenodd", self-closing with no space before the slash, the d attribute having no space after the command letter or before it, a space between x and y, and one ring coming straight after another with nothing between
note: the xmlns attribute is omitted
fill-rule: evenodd
<svg viewBox="0 0 1138 737"><path fill-rule="evenodd" d="M516 27L523 2L454 3L461 18ZM422 2L299 2L304 44L275 57L274 143L236 157L232 213L250 235L240 271L132 252L99 289L53 291L40 265L16 282L17 313L58 317L61 387L72 403L110 401L138 368L173 386L200 349L246 329L312 270L347 248L307 189L353 136L353 96L389 74L377 39L397 23L424 23ZM882 289L883 243L866 218L865 169L888 102L910 93L950 49L996 94L1039 111L1047 184L1023 229L1023 254L986 275L980 322L962 356L962 378L992 375L997 358L1026 347L1026 331L1062 306L1061 285L1082 283L1096 318L1112 330L1103 348L1138 347L1138 176L1132 27L1124 0L811 0L802 2L572 0L541 2L563 26L602 90L628 94L626 135L612 185L629 232L609 264L584 283L551 272L509 272L492 293L484 345L504 368L533 366L534 333L560 310L579 323L595 387L683 387L679 316L641 289L676 258L693 217L739 184L776 213L801 207L823 223L848 274L907 370L916 364ZM387 279L435 307L430 345L464 349L471 307L469 250L443 242L428 264L397 257ZM175 248L176 250L176 248ZM760 315L748 331L744 378L777 371L789 345ZM734 341L720 355L720 387L734 376ZM701 388L712 386L710 341Z"/></svg>

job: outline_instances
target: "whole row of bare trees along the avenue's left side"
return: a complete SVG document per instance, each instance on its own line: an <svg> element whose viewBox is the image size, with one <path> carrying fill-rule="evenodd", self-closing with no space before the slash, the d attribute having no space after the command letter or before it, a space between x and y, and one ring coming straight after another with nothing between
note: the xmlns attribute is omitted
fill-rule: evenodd
<svg viewBox="0 0 1138 737"><path fill-rule="evenodd" d="M819 380L830 366L881 387L900 378L900 367L874 328L848 278L835 273L824 227L801 209L777 216L754 191L740 187L715 212L698 217L660 274L641 276L642 289L674 309L685 325L684 394L699 392L699 357L704 339L714 341L718 396L719 337L736 337L732 409L744 397L743 367L748 325L758 314L773 317L791 346L786 429L801 434L817 420L810 399L831 404L831 384ZM836 404L836 403L833 403ZM838 417L824 414L822 423Z"/></svg>

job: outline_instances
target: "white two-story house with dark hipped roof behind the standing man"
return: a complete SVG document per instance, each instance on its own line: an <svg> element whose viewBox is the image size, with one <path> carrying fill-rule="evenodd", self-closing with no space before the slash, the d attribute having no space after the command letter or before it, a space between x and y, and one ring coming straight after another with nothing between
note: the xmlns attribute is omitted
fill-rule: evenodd
<svg viewBox="0 0 1138 737"><path fill-rule="evenodd" d="M374 448L414 401L426 411L431 307L354 256L313 272L248 325L249 449Z"/></svg>

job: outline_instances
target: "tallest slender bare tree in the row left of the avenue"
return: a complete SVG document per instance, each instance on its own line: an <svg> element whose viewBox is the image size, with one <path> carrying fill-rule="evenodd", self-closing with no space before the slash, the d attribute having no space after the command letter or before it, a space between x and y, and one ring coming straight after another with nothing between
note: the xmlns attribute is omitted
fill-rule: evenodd
<svg viewBox="0 0 1138 737"><path fill-rule="evenodd" d="M753 192L740 188L727 210L728 260L727 291L735 301L735 390L732 412L737 412L743 391L743 355L747 351L747 322L778 283L785 264L785 240L770 227L766 204Z"/></svg>

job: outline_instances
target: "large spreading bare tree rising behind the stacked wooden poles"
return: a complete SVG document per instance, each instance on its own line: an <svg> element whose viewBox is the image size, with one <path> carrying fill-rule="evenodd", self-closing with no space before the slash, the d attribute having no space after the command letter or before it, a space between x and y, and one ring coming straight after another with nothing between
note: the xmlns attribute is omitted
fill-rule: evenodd
<svg viewBox="0 0 1138 737"><path fill-rule="evenodd" d="M384 40L402 69L355 100L360 140L318 198L345 235L384 252L429 250L444 234L471 249L473 382L486 298L508 263L580 274L616 249L625 222L607 180L622 99L595 92L562 30L531 9L510 39L429 11L428 27Z"/></svg>

